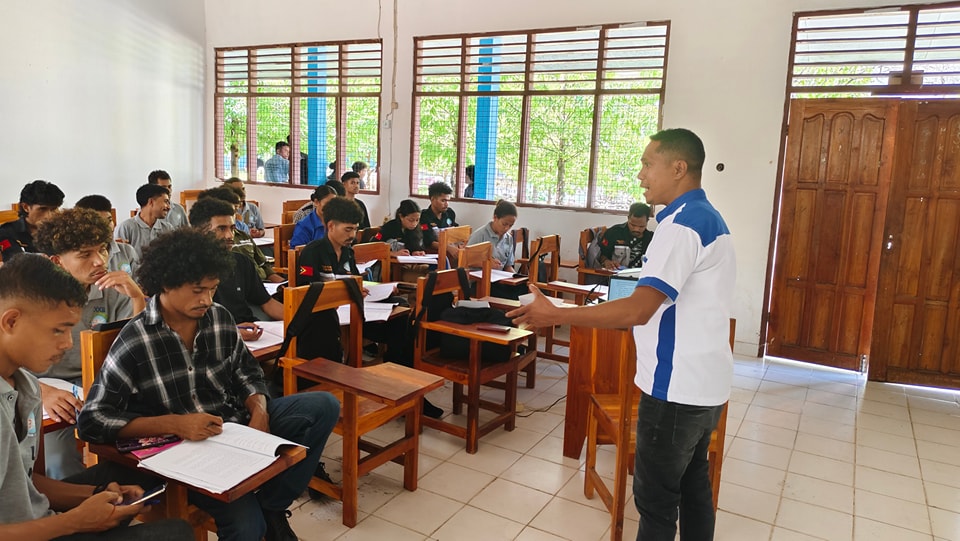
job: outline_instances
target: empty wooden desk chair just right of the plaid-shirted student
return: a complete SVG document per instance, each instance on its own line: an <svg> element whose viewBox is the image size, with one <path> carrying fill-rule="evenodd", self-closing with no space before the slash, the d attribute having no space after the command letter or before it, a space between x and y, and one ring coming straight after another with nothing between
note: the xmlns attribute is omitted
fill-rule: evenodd
<svg viewBox="0 0 960 541"><path fill-rule="evenodd" d="M355 278L360 282L359 277ZM307 294L309 286L284 289L283 318L289 325L293 315ZM350 305L351 321L360 321L360 312L350 300L343 281L327 282L313 306L315 312ZM403 486L417 489L417 469L420 449L420 419L423 396L443 385L443 378L431 376L394 363L383 363L361 368L361 341L363 326L349 326L350 346L347 348L347 366L327 359L307 361L287 356L280 359L283 370L284 394L297 392L297 378L320 383L315 389L334 393L342 408L334 431L343 436L343 474L340 485L314 477L310 487L343 502L343 524L357 523L359 478L387 462L403 466ZM290 343L290 352L297 351L297 339ZM404 434L385 446L363 440L368 432L397 419L405 418ZM367 456L361 458L360 451Z"/></svg>

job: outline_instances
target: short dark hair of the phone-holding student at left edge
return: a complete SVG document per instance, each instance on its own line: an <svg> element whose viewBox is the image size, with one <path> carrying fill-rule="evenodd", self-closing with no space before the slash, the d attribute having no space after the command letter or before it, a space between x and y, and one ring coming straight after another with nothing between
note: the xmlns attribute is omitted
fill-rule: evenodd
<svg viewBox="0 0 960 541"><path fill-rule="evenodd" d="M0 266L0 301L24 299L44 306L87 303L87 289L40 254L21 254Z"/></svg>

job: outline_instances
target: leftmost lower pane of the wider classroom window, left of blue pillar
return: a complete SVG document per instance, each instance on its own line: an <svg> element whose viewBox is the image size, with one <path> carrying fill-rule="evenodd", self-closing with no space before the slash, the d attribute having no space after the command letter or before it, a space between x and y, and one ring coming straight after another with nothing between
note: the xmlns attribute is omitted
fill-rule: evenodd
<svg viewBox="0 0 960 541"><path fill-rule="evenodd" d="M426 195L427 186L443 181L453 186L457 165L457 123L460 98L429 96L417 99L419 133L416 155L417 170L413 193Z"/></svg>

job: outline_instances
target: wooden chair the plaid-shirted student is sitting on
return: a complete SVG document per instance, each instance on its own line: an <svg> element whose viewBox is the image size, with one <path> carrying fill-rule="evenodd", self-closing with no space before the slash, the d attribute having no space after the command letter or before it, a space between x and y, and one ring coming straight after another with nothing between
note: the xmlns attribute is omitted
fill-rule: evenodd
<svg viewBox="0 0 960 541"><path fill-rule="evenodd" d="M93 331L85 330L80 332L80 366L81 380L83 382L83 396L88 396L90 388L93 386L93 380L96 379L103 361L107 358L107 352L110 346L116 340L117 335L123 325L129 320L118 321L109 324L106 330ZM110 446L112 448L112 446ZM115 451L115 449L113 449ZM96 455L88 453L91 457L88 460L88 466L96 463ZM161 505L152 506L150 511L140 515L139 518L148 522L161 518L181 518L194 530L194 537L200 540L207 539L207 532L217 531L217 525L213 517L187 502L187 489L180 483L168 483L167 491L163 495Z"/></svg>

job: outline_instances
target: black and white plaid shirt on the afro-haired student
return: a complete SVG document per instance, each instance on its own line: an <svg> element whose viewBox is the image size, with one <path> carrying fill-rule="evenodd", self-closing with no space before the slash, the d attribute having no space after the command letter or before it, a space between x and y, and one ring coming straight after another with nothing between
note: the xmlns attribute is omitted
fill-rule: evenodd
<svg viewBox="0 0 960 541"><path fill-rule="evenodd" d="M158 296L120 331L77 422L80 437L116 441L138 417L209 413L246 424L245 400L267 394L260 365L237 333L226 308L200 319L191 355L160 314Z"/></svg>

